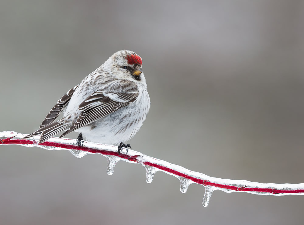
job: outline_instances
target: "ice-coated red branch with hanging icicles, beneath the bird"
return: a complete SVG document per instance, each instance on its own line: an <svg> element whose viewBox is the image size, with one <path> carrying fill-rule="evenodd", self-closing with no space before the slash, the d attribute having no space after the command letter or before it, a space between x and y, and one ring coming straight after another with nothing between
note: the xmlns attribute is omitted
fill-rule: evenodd
<svg viewBox="0 0 304 225"><path fill-rule="evenodd" d="M185 193L188 186L192 183L203 185L205 187L205 195L203 198L203 206L207 206L211 194L215 190L223 192L247 192L256 195L304 195L304 183L301 184L262 184L244 180L228 180L221 178L209 177L205 174L190 171L181 166L168 163L163 160L146 156L140 152L123 148L121 155L118 154L117 146L83 142L83 146L77 146L76 139L66 139L52 137L47 142L38 144L40 136L29 139L20 139L26 134L19 134L13 131L0 132L0 145L22 145L26 147L37 146L47 150L68 150L77 158L81 158L87 154L101 154L108 160L107 173L112 175L115 164L120 161L129 163L141 163L147 171L146 181L151 183L153 176L157 171L163 171L181 181L181 192Z"/></svg>

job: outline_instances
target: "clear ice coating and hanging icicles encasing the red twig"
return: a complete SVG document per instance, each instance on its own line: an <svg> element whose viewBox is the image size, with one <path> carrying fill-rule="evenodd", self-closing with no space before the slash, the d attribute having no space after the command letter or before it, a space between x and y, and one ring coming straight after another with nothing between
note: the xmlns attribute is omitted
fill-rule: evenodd
<svg viewBox="0 0 304 225"><path fill-rule="evenodd" d="M64 149L64 150L68 150L70 151L74 156L76 156L77 158L81 158L82 156L85 156L87 154L93 154L90 152L86 152L86 151L82 151L82 150L76 150L76 149L67 149L64 147L60 147L60 145L39 145L38 144L38 140L39 140L39 136L35 136L29 139L29 142L23 141L23 140L19 140L21 138L23 138L26 134L19 134L17 132L13 132L13 131L4 131L4 132L0 132L0 146L2 145L7 145L7 144L16 144L16 145L21 145L21 146L26 146L26 147L33 147L33 146L37 146L43 149L47 149L47 150L60 150L60 149ZM14 142L7 142L9 140L14 140ZM32 141L32 142L31 142ZM59 138L52 138L50 139L50 142L54 142L54 143L62 143L65 145L74 145L76 140L73 139L59 139ZM86 142L85 143L86 147L90 147L90 148L95 148L95 149L103 149L106 151L116 151L116 147L114 146L108 146L108 145L103 145L103 144L96 144L96 143L90 143L90 142ZM101 154L101 153L99 153ZM130 153L129 153L130 154ZM165 162L163 160L158 160L155 158L152 158L150 156L144 156L142 153L139 152L134 152L134 155L132 160L130 159L125 159L125 158L120 158L117 156L110 156L110 155L104 155L107 160L108 160L108 166L107 166L107 173L109 175L112 175L114 172L114 167L116 165L116 163L119 160L123 160L129 163L141 163L147 171L147 177L146 177L146 181L147 183L151 183L154 177L154 174L156 171L160 171L160 169L157 169L155 167L152 166L148 166L145 165L144 163L157 163L160 166L163 167L167 167L173 171L178 171L180 173L183 174L192 174L191 176L193 178L199 178L201 180L208 180L214 184L222 184L222 185L227 185L227 186L232 186L233 189L226 189L226 188L218 188L218 187L214 187L214 186L210 186L210 185L204 185L205 187L205 194L204 194L204 198L202 201L202 205L203 206L207 206L209 201L210 201L210 197L212 195L212 192L214 190L221 190L227 193L230 192L236 192L235 188L237 188L237 191L242 191L243 188L245 187L253 187L253 188L270 188L272 189L272 192L261 192L261 191L254 191L254 190L248 190L246 192L248 193L253 193L253 194L259 194L259 195L304 195L304 183L301 184L273 184L273 183L267 183L267 184L262 184L262 183L257 183L257 182L250 182L250 181L241 181L241 180L228 180L228 179L220 179L220 178L212 178L212 177L208 177L205 174L201 174L201 173L197 173L194 171L189 171L185 168L179 167L178 165L173 165L171 163ZM103 154L102 154L103 155ZM136 157L135 157L136 156ZM139 156L141 157L140 160ZM137 159L137 160L133 160L133 159ZM188 186L191 183L195 183L187 178L184 177L180 177L178 175L176 175L176 173L171 173L171 172L166 172L167 174L171 174L175 177L177 177L180 182L181 182L181 186L180 186L180 190L182 193L185 193L188 189ZM195 176L194 176L195 175ZM293 191L293 192L274 192L274 190L282 190L282 191Z"/></svg>

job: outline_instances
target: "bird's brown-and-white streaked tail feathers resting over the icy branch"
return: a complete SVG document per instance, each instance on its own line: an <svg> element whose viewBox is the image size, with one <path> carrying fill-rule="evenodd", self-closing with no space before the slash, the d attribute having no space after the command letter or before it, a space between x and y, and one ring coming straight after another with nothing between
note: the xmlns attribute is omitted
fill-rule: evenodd
<svg viewBox="0 0 304 225"><path fill-rule="evenodd" d="M67 128L71 127L71 124L64 124L64 122L62 120L58 120L54 123L51 123L45 127L40 128L39 130L36 130L35 132L26 135L24 138L22 139L26 139L29 137L33 137L36 135L40 135L40 139L39 139L39 143L45 142L47 141L47 139L51 138L52 136L54 136L55 134L66 130Z"/></svg>

